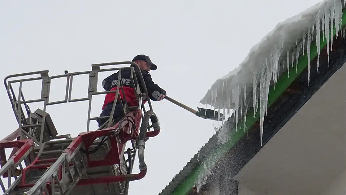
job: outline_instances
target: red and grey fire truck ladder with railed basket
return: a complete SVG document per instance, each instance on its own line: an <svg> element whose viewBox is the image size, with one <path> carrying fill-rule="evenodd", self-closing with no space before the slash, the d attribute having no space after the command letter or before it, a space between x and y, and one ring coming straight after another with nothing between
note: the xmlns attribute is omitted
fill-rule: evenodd
<svg viewBox="0 0 346 195"><path fill-rule="evenodd" d="M129 67L100 69L108 65L130 64ZM5 187L0 179L4 195L126 195L129 181L142 179L147 167L144 161L145 143L150 137L160 133L160 124L153 112L151 101L142 73L134 62L113 62L92 64L91 71L48 76L48 70L14 74L4 79L9 99L19 128L0 141L0 176L8 178ZM136 91L138 106L129 107L119 98L125 117L114 124L113 113L117 101L107 122L96 131L89 131L90 121L102 117L91 117L91 100L94 95L116 93L124 94L121 71L130 69L131 82ZM116 91L97 91L99 72L119 71ZM89 74L88 97L72 99L73 77ZM10 78L35 76L35 78ZM52 79L66 78L65 100L49 102ZM139 80L138 80L139 79ZM27 100L22 93L22 83L42 80L40 99ZM140 81L140 82L138 82ZM12 84L19 83L18 95ZM142 85L140 88L140 85ZM141 92L140 89L144 89ZM54 91L56 92L56 91ZM145 110L144 100L149 110ZM75 138L70 134L58 135L46 106L68 102L89 101L86 132ZM31 112L28 104L43 102L43 109ZM151 121L152 125L150 125ZM151 130L153 128L153 130ZM130 147L126 148L126 143ZM9 157L5 149L13 148ZM138 149L139 170L133 174L133 165Z"/></svg>

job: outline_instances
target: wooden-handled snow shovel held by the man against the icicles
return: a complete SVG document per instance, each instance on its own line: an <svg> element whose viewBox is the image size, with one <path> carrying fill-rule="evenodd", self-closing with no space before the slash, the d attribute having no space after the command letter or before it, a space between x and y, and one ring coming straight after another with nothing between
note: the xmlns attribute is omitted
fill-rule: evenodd
<svg viewBox="0 0 346 195"><path fill-rule="evenodd" d="M184 108L185 110L188 110L190 111L192 114L195 114L196 116L199 116L201 118L204 118L204 119L210 119L212 121L223 121L225 119L225 116L223 116L221 113L217 112L217 111L214 111L212 109L206 109L206 108L197 108L197 110L195 109L192 109L182 103L180 103L179 101L176 101L168 96L165 97L166 100L172 102L173 104L181 107L181 108ZM220 118L218 118L218 115L220 114Z"/></svg>

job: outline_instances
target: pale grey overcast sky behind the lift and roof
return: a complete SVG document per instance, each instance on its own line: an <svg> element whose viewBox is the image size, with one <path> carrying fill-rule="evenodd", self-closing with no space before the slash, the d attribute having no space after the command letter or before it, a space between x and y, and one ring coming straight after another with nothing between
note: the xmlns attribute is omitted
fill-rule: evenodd
<svg viewBox="0 0 346 195"><path fill-rule="evenodd" d="M64 70L88 71L92 63L130 61L146 54L158 65L151 72L153 80L167 95L195 108L201 106L199 100L212 83L237 67L280 21L318 2L1 1L0 77L38 70L49 70L50 76ZM106 76L101 74L100 80ZM73 96L85 97L88 77L74 82ZM39 83L23 87L27 98L39 96ZM64 87L52 81L52 100L64 97ZM4 87L0 99L3 138L18 125ZM102 103L103 97L94 99L92 116L99 115ZM30 106L37 108L37 104ZM130 195L161 192L215 133L217 123L197 118L169 101L153 106L162 131L147 142L148 173L130 183ZM47 112L59 134L76 136L85 131L87 108L87 102L69 103L49 106Z"/></svg>

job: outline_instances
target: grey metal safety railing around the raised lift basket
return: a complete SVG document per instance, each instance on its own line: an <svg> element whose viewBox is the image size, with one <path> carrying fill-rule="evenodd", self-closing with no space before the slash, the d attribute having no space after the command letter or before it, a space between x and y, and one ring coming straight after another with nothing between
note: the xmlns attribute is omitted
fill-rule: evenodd
<svg viewBox="0 0 346 195"><path fill-rule="evenodd" d="M122 65L122 64L130 64L129 67L121 67L121 68L108 68L108 69L100 69L100 67L104 66L109 66L109 65ZM7 76L4 79L4 85L7 90L7 94L9 96L13 112L16 116L19 128L22 129L22 133L26 136L27 139L33 139L34 142L36 142L38 145L43 143L43 134L44 134L44 127L45 127L45 119L46 115L43 114L42 116L42 121L33 121L31 120L31 116L33 113L30 110L30 107L28 106L29 103L38 103L38 102L43 102L43 113L46 113L46 107L49 105L56 105L56 104L63 104L63 103L71 103L71 102L78 102L78 101L89 101L89 108L88 108L88 119L87 119L87 124L86 124L86 131L88 132L90 129L90 121L92 120L97 120L100 118L106 118L108 117L108 120L111 120L113 118L113 113L116 105L116 101L113 104L112 112L110 116L103 116L103 117L91 117L91 101L92 97L94 95L102 95L102 94L108 94L108 93L116 93L115 99L118 99L119 97L119 91L122 91L122 94L124 94L124 89L122 86L121 81L121 71L130 69L131 70L131 82L134 87L138 102L138 109L143 109L145 112L144 108L144 103L143 100L147 100L149 104L149 109L152 110L152 104L148 96L148 91L145 85L145 81L143 79L142 72L140 71L139 66L135 62L130 62L130 61L124 61L124 62L111 62L111 63L101 63L101 64L92 64L91 65L92 70L91 71L84 71L84 72L73 72L73 73L65 73L62 75L57 75L57 76L52 76L49 77L48 75L48 70L44 71L36 71L36 72L28 72L28 73L21 73L21 74L13 74L10 76ZM119 71L119 78L118 78L118 83L117 83L117 89L115 91L97 91L98 87L98 76L100 72L107 72L107 71ZM26 79L17 79L17 80L9 80L11 78L17 78L17 77L24 77L24 76L32 76L39 74L39 77L35 78L26 78ZM78 98L78 99L72 99L72 82L73 78L79 75L85 75L89 74L89 87L88 87L88 96L85 98ZM64 100L59 100L59 101L49 101L50 97L50 91L51 91L51 81L52 79L58 79L58 78L66 78L66 88L65 88L65 99ZM137 80L140 79L140 82ZM27 100L25 99L24 94L22 93L22 84L27 81L35 81L35 80L42 80L42 87L41 87L41 95L39 99L30 99ZM13 83L19 83L19 90L18 90L18 95L16 96L14 90L13 90ZM142 89L144 89L144 92L141 92L141 88L139 85L142 85ZM119 90L120 89L120 90ZM55 91L56 93L56 91ZM119 98L120 99L120 98ZM121 101L121 99L120 99ZM122 105L122 103L121 103ZM24 108L23 108L24 106ZM123 106L124 112L126 112L126 108ZM27 114L27 118L25 117L25 113ZM126 113L125 113L126 114ZM110 126L111 123L108 123L108 127ZM37 138L34 135L35 130L37 128L40 128L40 135ZM102 127L100 127L102 128ZM103 127L104 128L104 127ZM106 127L107 128L107 127ZM148 126L150 128L150 126ZM22 138L21 138L22 139Z"/></svg>

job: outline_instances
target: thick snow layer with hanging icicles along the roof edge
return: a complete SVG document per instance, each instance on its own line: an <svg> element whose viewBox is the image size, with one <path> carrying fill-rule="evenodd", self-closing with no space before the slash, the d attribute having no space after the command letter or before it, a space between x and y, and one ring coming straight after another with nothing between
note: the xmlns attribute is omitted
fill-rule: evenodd
<svg viewBox="0 0 346 195"><path fill-rule="evenodd" d="M294 68L294 64L297 66L301 52L308 54L308 70L310 71L310 46L313 37L317 40L319 57L320 36L330 40L329 32L333 35L334 24L337 36L340 36L342 4L345 6L345 2L324 0L279 23L251 48L244 61L236 69L213 83L200 103L211 105L215 109L223 109L224 113L227 109L228 111L233 109L236 126L237 119L242 117L242 114L246 118L248 107L253 106L256 114L260 106L262 145L263 120L270 86L275 85L282 72ZM329 48L329 42L327 48ZM252 97L249 98L249 94L252 94Z"/></svg>

